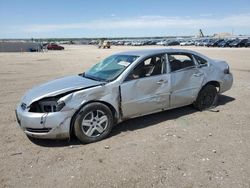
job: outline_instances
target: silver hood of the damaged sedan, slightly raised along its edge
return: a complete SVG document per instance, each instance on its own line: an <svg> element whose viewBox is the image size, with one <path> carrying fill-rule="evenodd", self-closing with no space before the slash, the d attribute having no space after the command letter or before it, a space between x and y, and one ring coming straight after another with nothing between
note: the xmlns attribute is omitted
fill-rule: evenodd
<svg viewBox="0 0 250 188"><path fill-rule="evenodd" d="M78 75L59 78L32 88L23 96L22 102L29 106L33 102L45 97L53 97L72 90L84 89L100 84L102 82Z"/></svg>

